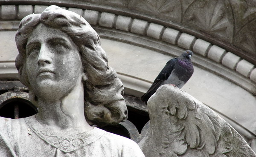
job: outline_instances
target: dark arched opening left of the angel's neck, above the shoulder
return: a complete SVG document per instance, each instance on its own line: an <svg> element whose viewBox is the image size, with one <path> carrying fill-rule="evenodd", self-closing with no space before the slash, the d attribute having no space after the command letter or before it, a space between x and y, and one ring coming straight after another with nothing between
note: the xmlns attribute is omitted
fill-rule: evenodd
<svg viewBox="0 0 256 157"><path fill-rule="evenodd" d="M12 98L0 106L0 117L5 118L26 118L37 112L37 108L30 101L22 98Z"/></svg>

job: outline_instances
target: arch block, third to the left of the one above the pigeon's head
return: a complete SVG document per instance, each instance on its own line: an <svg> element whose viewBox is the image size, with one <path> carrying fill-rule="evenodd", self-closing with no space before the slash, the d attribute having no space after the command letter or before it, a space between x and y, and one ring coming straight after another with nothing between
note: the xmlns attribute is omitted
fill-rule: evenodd
<svg viewBox="0 0 256 157"><path fill-rule="evenodd" d="M131 24L131 32L143 35L143 34L145 34L145 30L146 30L147 26L148 26L147 21L134 19Z"/></svg>

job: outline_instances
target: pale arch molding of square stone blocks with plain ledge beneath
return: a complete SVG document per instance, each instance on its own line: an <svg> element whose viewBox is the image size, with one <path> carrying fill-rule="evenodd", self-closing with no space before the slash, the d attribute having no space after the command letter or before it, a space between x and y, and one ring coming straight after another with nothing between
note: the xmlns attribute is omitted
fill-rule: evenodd
<svg viewBox="0 0 256 157"><path fill-rule="evenodd" d="M220 4L215 4L216 9L221 7L218 5ZM17 23L19 22L19 19L26 16L27 14L31 14L31 11L34 13L41 12L47 6L8 5L1 7L12 8L12 11L9 11L7 16L7 13L3 14L2 9L0 30L12 30L17 29ZM19 9L17 10L17 8ZM255 65L247 62L244 59L241 59L241 57L236 56L232 52L227 52L227 50L222 49L216 45L212 45L212 43L206 42L203 39L198 39L195 36L182 33L172 28L166 28L164 25L159 25L157 23L151 23L149 21L134 19L132 17L116 15L107 12L99 12L96 10L84 10L82 8L67 9L83 16L91 25L93 25L93 28L96 29L96 31L102 37L120 40L122 42L128 42L150 49L156 49L157 51L171 54L172 56L178 55L170 52L168 45L175 45L181 49L193 50L193 52L197 55L195 55L196 60L194 61L196 64L199 64L202 68L211 70L214 73L217 73L218 75L233 81L240 87L256 95ZM12 16L12 14L14 15ZM6 17L8 20L13 20L8 22L8 20L5 20L3 17ZM215 26L217 27L217 25ZM136 36L138 41L129 39L128 36ZM151 44L154 43L154 46L150 44L147 45L145 42L139 42L139 40L150 41ZM163 48L163 46L166 48ZM207 59L204 59L205 57ZM218 64L222 64L224 66L219 66ZM226 67L230 70L227 70ZM233 73L233 70L237 73Z"/></svg>

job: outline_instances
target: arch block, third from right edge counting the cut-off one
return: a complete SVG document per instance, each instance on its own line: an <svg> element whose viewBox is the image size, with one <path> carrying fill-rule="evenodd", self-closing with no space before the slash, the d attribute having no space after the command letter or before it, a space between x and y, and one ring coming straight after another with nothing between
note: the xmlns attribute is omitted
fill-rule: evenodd
<svg viewBox="0 0 256 157"><path fill-rule="evenodd" d="M225 54L225 56L222 59L222 64L226 67L229 67L230 69L235 70L237 63L241 60L239 56L236 56L235 54L228 52Z"/></svg>

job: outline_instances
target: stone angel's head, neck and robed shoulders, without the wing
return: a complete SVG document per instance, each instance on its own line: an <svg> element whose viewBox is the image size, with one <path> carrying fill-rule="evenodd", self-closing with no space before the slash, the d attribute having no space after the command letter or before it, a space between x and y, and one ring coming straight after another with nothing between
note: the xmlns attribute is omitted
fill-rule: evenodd
<svg viewBox="0 0 256 157"><path fill-rule="evenodd" d="M127 119L123 85L89 23L49 6L21 20L20 81L38 114L0 117L0 157L144 157L134 141L93 127Z"/></svg>

